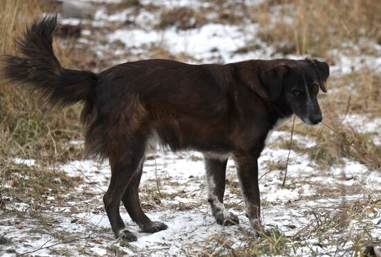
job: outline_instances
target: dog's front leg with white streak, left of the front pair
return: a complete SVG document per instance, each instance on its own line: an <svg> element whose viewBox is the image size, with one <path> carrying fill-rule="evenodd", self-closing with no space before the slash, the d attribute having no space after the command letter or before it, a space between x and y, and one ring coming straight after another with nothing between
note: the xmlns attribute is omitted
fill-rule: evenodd
<svg viewBox="0 0 381 257"><path fill-rule="evenodd" d="M211 211L218 224L233 225L239 224L237 215L225 210L225 172L227 159L213 159L205 156L206 184L208 186L208 202L211 204Z"/></svg>

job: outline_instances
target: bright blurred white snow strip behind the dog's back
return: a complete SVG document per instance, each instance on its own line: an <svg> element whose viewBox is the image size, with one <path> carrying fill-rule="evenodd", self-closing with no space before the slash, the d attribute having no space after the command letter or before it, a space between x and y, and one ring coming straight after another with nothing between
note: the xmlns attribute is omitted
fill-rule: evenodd
<svg viewBox="0 0 381 257"><path fill-rule="evenodd" d="M258 25L245 27L245 33L254 33ZM197 60L211 60L213 55L221 55L220 62L237 62L242 60L241 55L233 55L238 48L246 46L249 42L242 40L242 28L224 24L206 24L201 28L177 31L170 28L165 31L142 29L119 29L109 35L111 41L120 40L127 47L139 47L144 44L162 44L167 46L170 53L177 55L187 53ZM221 44L224 42L224 44ZM252 43L252 42L250 42ZM261 53L251 53L255 58Z"/></svg>

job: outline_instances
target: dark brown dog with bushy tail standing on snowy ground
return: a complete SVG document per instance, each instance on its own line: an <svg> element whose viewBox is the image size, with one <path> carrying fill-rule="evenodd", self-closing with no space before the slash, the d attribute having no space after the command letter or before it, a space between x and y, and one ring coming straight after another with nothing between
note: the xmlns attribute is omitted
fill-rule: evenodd
<svg viewBox="0 0 381 257"><path fill-rule="evenodd" d="M204 153L211 212L218 224L238 224L223 204L227 159L238 171L245 211L254 231L260 222L258 157L267 134L295 114L321 122L319 89L327 91L329 66L319 60L248 60L192 65L141 60L98 74L64 69L53 53L57 17L35 20L19 40L22 57L6 56L3 77L38 91L50 107L82 102L88 157L109 159L112 177L103 197L116 238L137 240L119 213L125 209L141 231L167 229L141 209L139 183L152 136L161 145Z"/></svg>

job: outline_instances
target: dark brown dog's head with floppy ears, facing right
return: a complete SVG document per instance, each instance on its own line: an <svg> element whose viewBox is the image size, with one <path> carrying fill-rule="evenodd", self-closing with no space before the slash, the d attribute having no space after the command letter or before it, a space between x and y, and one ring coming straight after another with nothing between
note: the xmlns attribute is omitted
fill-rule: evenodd
<svg viewBox="0 0 381 257"><path fill-rule="evenodd" d="M288 109L308 125L321 122L319 89L326 93L329 66L318 60L278 60L261 73L269 100Z"/></svg>

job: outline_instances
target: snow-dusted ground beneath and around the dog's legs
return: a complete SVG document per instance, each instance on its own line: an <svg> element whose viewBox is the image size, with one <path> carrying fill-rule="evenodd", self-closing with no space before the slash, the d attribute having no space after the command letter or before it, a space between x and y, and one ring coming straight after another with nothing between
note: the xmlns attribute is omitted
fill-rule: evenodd
<svg viewBox="0 0 381 257"><path fill-rule="evenodd" d="M318 217L345 215L339 209L342 206L350 206L355 201L369 202L369 192L379 188L381 177L377 170L368 170L355 161L346 161L345 165L333 166L329 170L317 170L317 165L307 156L295 152L291 152L288 166L288 186L281 188L282 172L278 169L267 172L269 162L282 163L287 158L288 150L272 147L283 136L288 136L287 132L274 132L260 157L260 190L263 220L267 227L276 227L285 236L294 236L303 229L308 231L317 227ZM313 142L305 140L305 144L313 145ZM30 160L16 161L28 166L35 165ZM3 252L10 252L4 256L43 247L48 248L34 254L103 256L114 251L134 256L195 256L203 251L220 254L224 252L224 247L219 240L226 241L234 249L245 246L247 238L253 236L243 212L232 161L229 161L227 169L225 204L229 211L238 215L240 225L222 227L215 223L206 202L201 154L162 151L148 154L141 183L143 209L152 220L166 222L168 229L154 234L141 233L121 207L127 226L138 236L138 241L130 244L114 240L103 211L102 196L107 190L109 166L85 160L71 161L61 168L69 178L79 182L75 190L60 195L64 200L60 206L55 206L54 195L48 196L43 203L48 209L39 213L39 219L30 220L27 210L35 204L32 199L7 205L7 208L18 209L26 216L1 220L1 236L13 242L12 245L1 246ZM381 209L366 211L370 205L363 205L362 208L366 215L362 216L362 220L353 220L345 233L366 229L372 237L380 238ZM60 233L62 238L56 236ZM331 239L341 242L345 236ZM67 242L70 240L73 241ZM302 246L295 249L296 254L330 255L337 250L336 244L321 242L319 238L311 238ZM345 249L344 245L342 247Z"/></svg>

